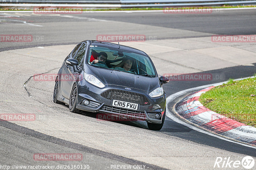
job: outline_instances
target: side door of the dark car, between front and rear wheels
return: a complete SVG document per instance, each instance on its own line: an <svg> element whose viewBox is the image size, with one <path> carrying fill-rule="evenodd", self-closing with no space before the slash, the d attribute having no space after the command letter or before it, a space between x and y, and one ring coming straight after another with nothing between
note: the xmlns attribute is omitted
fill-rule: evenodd
<svg viewBox="0 0 256 170"><path fill-rule="evenodd" d="M69 59L73 59L76 56L77 51L79 50L79 47L82 45L83 43L78 44L73 51L71 52L71 54L69 55ZM62 81L62 96L69 99L70 96L70 91L71 91L71 86L72 86L72 82L73 82L73 67L69 66L66 63L66 60L64 61L64 67L63 67L63 74L61 75L61 81Z"/></svg>

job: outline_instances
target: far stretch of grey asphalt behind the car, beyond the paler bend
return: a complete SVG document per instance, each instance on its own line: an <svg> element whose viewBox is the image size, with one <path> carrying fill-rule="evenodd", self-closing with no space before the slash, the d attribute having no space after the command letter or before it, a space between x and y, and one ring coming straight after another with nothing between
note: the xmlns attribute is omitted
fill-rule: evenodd
<svg viewBox="0 0 256 170"><path fill-rule="evenodd" d="M219 35L247 35L256 34L255 9L248 10L217 10L209 14L164 14L160 12L133 12L133 13L83 13L83 14L33 14L27 13L1 13L1 24L10 23L1 29L1 34L13 34L18 30L13 24L18 24L19 31L32 34L31 43L4 43L0 51L22 47L47 46L58 44L77 44L87 39L96 39L98 34L143 34L147 39L177 39L190 37L204 37L212 34ZM58 17L58 15L61 15ZM55 17L54 17L55 16ZM12 17L12 18L3 18ZM120 21L110 25L109 22L83 25L84 21ZM40 25L47 23L48 27L23 26L23 22ZM73 24L71 24L73 23ZM155 26L151 30L134 30L126 28L125 23ZM133 25L129 25L130 27ZM171 32L168 29L181 29L185 32ZM126 28L126 29L125 29ZM147 27L146 27L147 28ZM196 33L198 32L198 33ZM81 36L82 35L82 36Z"/></svg>

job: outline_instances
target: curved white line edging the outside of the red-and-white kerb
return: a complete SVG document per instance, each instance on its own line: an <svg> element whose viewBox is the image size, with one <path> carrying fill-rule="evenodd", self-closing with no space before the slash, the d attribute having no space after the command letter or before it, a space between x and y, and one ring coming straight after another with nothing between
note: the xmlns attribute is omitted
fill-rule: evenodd
<svg viewBox="0 0 256 170"><path fill-rule="evenodd" d="M236 80L243 80L243 79L247 79L247 78L253 78L253 77L254 77L254 76L252 76L252 77L245 77L245 78L241 78L241 79L235 79L235 81L236 81ZM179 96L181 96L181 95L184 95L185 93L188 93L188 92L190 92L190 91L195 91L195 90L204 89L204 88L207 88L207 87L210 87L210 86L219 86L219 85L221 85L221 84L223 84L223 83L226 83L226 82L228 82L228 81L223 81L223 82L214 83L214 84L208 84L208 85L204 85L204 86L198 86L198 87L194 87L194 88L190 88L190 89L186 89L186 90L179 91L179 92L174 93L174 94L172 94L172 95L170 95L170 96L168 96L168 97L166 98L166 103L167 103L166 106L168 106L168 104L169 104L170 102L172 102L176 97L179 97ZM193 125L191 125L191 124L187 124L186 122L183 122L183 121L180 120L179 118L177 118L177 117L175 117L174 115L172 115L172 114L170 113L168 107L167 107L167 110L166 110L166 116L169 117L170 119L172 119L173 121L175 121L175 122L177 122L177 123L179 123L179 124L182 124L182 125L184 125L184 126L187 126L188 128L193 129L193 130L195 130L195 131L199 131L199 132L201 132L201 133L204 133L204 134L207 134L207 135L210 135L210 136L212 136L212 137L216 137L216 138L219 138L219 139L222 139L222 140L226 140L226 141L228 141L228 142L233 142L233 143L236 143L236 144L239 144L239 145L243 145L243 146L247 146L247 147L251 147L251 148L256 149L255 146L252 146L252 145L249 145L249 144L240 143L240 142L236 142L236 141L233 141L233 140L229 140L229 139L227 139L227 138L224 138L224 137L221 137L221 136L218 136L218 135L209 133L209 132L207 132L207 131L204 131L204 130L202 130L202 129L199 129L199 128L196 127L197 125L193 126Z"/></svg>

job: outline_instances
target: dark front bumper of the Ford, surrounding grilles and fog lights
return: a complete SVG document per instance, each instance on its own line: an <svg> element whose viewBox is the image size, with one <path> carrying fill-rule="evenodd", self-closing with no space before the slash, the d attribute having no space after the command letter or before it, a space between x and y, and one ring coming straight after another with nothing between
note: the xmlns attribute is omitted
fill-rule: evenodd
<svg viewBox="0 0 256 170"><path fill-rule="evenodd" d="M166 104L165 93L163 96L151 98L148 95L148 92L131 88L132 90L129 92L139 93L146 96L150 102L150 105L139 105L139 108L137 110L129 110L113 106L113 99L109 100L100 96L101 93L108 89L118 89L127 91L122 86L106 85L105 88L100 89L89 84L86 81L80 81L78 85L78 97L76 108L84 111L99 112L117 117L123 117L128 120L143 120L154 124L162 123L162 118L164 115ZM88 100L90 101L90 103L88 105L85 105L83 102L84 100ZM155 117L156 113L160 113L161 117L157 119Z"/></svg>

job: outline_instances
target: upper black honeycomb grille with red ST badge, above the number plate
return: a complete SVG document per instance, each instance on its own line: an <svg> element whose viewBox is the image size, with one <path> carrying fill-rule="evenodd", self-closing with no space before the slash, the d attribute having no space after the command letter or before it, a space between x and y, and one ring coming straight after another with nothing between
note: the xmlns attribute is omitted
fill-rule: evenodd
<svg viewBox="0 0 256 170"><path fill-rule="evenodd" d="M118 89L109 89L100 94L101 97L104 97L108 100L120 100L124 102L137 103L141 106L149 106L151 103L148 98L142 94L134 93L131 91L124 91Z"/></svg>

